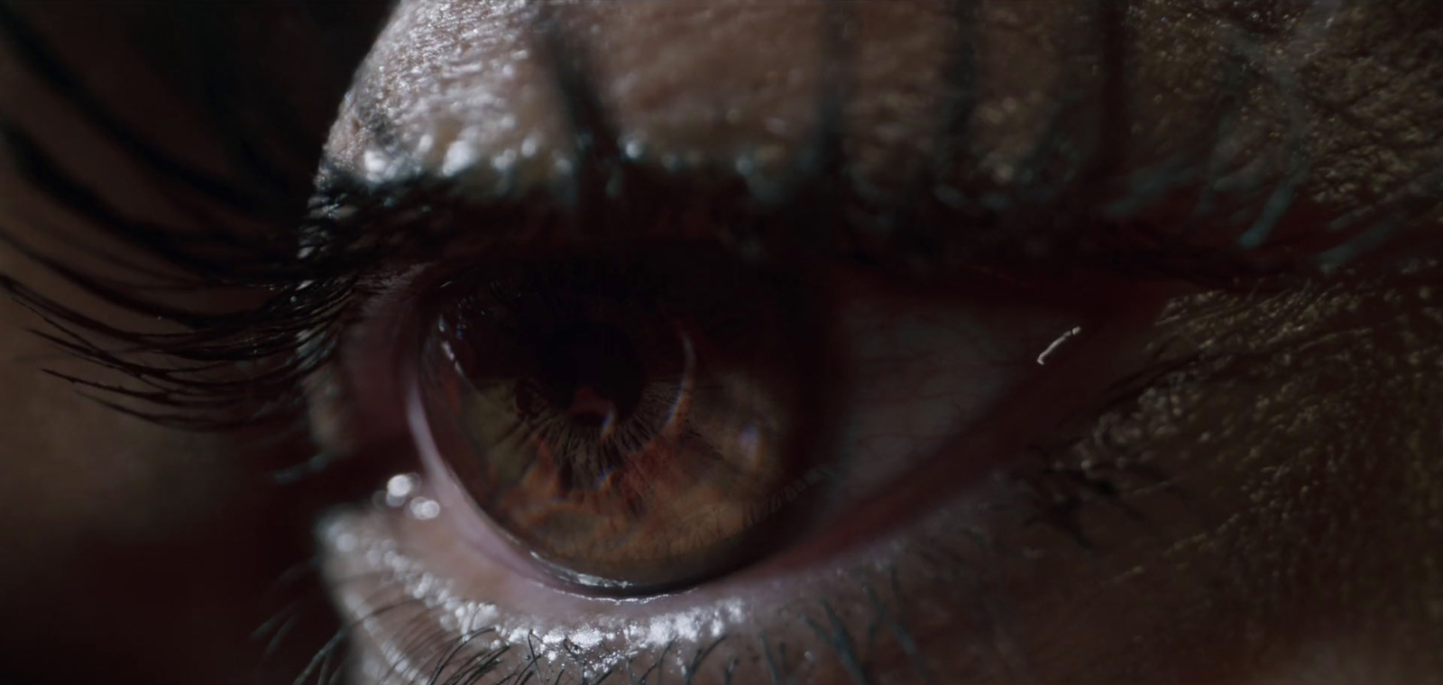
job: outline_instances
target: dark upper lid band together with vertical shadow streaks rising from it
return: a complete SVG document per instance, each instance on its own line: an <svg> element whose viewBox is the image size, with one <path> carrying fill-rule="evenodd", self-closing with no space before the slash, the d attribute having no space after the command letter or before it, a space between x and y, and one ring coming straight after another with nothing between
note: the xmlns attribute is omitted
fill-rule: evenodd
<svg viewBox="0 0 1443 685"><path fill-rule="evenodd" d="M965 150L971 133L975 97L977 55L973 3L951 3L958 19L955 65L949 69L955 95L948 95L941 140L942 149ZM841 156L840 111L848 98L847 74L854 69L856 52L850 3L827 3L823 50L827 76L818 94L818 125L807 149L799 151L792 173L776 187L759 192L733 164L714 162L704 170L670 172L655 159L632 159L619 150L620 134L605 111L595 79L587 72L589 59L579 36L561 20L561 9L544 4L531 22L531 39L545 59L543 66L558 92L563 120L574 143L571 172L566 190L511 185L504 196L468 196L466 183L453 177L427 177L413 172L408 177L367 182L345 173L339 163L328 164L317 198L326 206L349 208L359 224L351 231L387 234L392 257L411 252L400 235L423 235L427 248L437 249L450 241L485 242L495 234L550 232L553 238L603 241L648 238L662 231L677 231L675 215L706 213L713 218L714 234L729 242L759 241L788 244L795 248L828 248L861 255L867 261L906 270L908 262L935 262L937 254L958 255L961 265L1001 265L1039 268L1101 268L1124 265L1133 274L1227 284L1237 277L1289 271L1296 257L1264 255L1258 249L1202 247L1166 226L1139 225L1098 202L1110 179L1121 173L1120 141L1128 131L1127 89L1134 79L1136 56L1131 33L1126 26L1123 4L1108 0L1097 7L1095 49L1102 59L1104 79L1098 87L1105 112L1097 117L1095 144L1081 159L1065 163L1072 172L1059 172L1066 187L1046 187L1046 174L1022 173L1036 179L1038 190L1009 192L1012 199L996 206L994 190L987 187L949 187L944 179L955 164L941 159L931 176L912 179L903 193L880 199L844 180L848 174ZM1059 117L1062 110L1059 108ZM1108 114L1110 112L1110 114ZM377 112L380 115L380 112ZM1221 115L1221 114L1219 114ZM1087 117L1091 120L1092 117ZM1062 120L1053 133L1043 136L1033 162L1056 164L1058 150L1066 147L1069 133ZM1075 133L1075 131L1074 131ZM1117 143L1117 144L1113 144ZM1199 164L1211 149L1196 150ZM965 151L962 151L965 156ZM1176 160L1170 162L1176 164ZM414 167L413 167L414 169ZM470 189L473 192L473 189ZM779 192L779 193L778 193ZM1048 198L1040 205L1022 200ZM691 198L696 206L672 205L675 198ZM665 205L665 209L661 208ZM378 206L377 213L359 206ZM431 213L439 219L424 228L414 222L392 221L390 213ZM584 222L579 221L584 216ZM450 225L440 225L442 222ZM365 228L369 225L371 228ZM1118 226L1121 225L1121 229ZM668 235L668 237L675 237ZM685 235L693 237L693 235ZM716 238L717 235L700 235ZM1036 252L1042 247L1042 258ZM1276 258L1277 257L1277 258ZM398 257L400 258L400 257ZM947 270L958 264L928 264Z"/></svg>

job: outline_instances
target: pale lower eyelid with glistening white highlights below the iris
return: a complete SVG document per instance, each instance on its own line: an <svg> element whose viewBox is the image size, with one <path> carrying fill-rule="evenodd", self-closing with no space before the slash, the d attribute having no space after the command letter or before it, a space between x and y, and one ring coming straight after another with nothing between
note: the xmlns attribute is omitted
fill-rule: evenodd
<svg viewBox="0 0 1443 685"><path fill-rule="evenodd" d="M792 650L784 673L794 669L792 675L804 678L798 682L850 682L846 663L857 658L853 652L859 648L835 640L853 642L879 614L898 610L896 583L949 583L938 558L909 549L938 549L944 536L962 541L957 521L958 511L939 512L919 529L879 541L837 567L648 600L557 593L488 565L494 560L453 545L443 521L417 519L405 506L336 512L322 523L320 544L335 600L361 619L361 648L391 659L387 679L401 675L433 682L427 679L433 673L455 675L478 655L505 646L521 655L505 665L509 671L498 671L498 678L525 669L530 649L545 655L547 676L558 675L570 653L576 663L596 668L593 678L602 669L628 663L638 672L664 663L662 671L671 676L700 666L697 682L723 682L727 669L734 682L766 682L773 665L760 652L784 645L782 652ZM404 547L400 541L405 541ZM954 588L954 594L971 591ZM944 627L955 627L955 617L938 607L911 624L903 642L916 648L918 640L929 642ZM974 630L993 627L988 620ZM975 645L986 643L981 635L975 637ZM463 640L469 645L460 648ZM711 649L707 658L696 659L706 649ZM449 655L449 666L442 663L443 655ZM869 669L882 673L918 668L895 643L872 650L866 659ZM996 660L996 655L986 659ZM975 668L983 672L997 665Z"/></svg>

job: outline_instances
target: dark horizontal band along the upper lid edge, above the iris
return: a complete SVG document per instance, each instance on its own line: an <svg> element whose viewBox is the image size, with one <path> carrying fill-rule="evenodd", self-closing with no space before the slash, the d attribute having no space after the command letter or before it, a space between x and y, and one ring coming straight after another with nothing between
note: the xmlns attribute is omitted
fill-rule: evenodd
<svg viewBox="0 0 1443 685"><path fill-rule="evenodd" d="M857 209L818 216L807 200L763 202L743 177L724 170L678 174L639 167L632 179L632 187L645 190L586 213L584 222L547 189L476 199L452 179L418 177L380 187L354 179L349 189L333 185L317 195L317 205L335 218L309 231L351 237L369 254L356 264L372 268L430 260L456 245L479 245L485 252L498 244L574 248L648 239L719 241L752 255L837 257L921 281L958 270L1098 271L1229 287L1240 278L1303 268L1300 260L1264 251L1189 244L1163 228L1128 224L1101 209L1072 208L1066 216L1038 209L977 216L941 202L860 209L876 203L843 189L834 202ZM817 219L823 221L812 224Z"/></svg>

